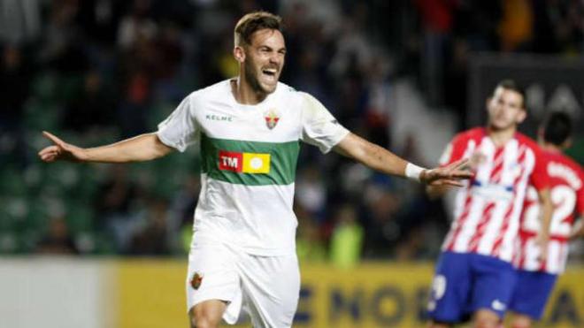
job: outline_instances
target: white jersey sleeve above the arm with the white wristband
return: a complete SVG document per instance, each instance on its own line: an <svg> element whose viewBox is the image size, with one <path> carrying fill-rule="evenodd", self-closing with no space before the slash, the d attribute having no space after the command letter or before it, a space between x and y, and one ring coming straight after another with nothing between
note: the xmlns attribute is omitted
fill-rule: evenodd
<svg viewBox="0 0 584 328"><path fill-rule="evenodd" d="M304 104L301 139L327 153L349 134L349 130L337 122L316 98L305 93L302 95Z"/></svg>

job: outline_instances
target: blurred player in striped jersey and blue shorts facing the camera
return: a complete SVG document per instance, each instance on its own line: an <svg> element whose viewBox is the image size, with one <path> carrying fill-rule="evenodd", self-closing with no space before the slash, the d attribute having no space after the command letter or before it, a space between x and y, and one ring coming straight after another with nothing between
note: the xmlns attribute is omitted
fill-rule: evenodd
<svg viewBox="0 0 584 328"><path fill-rule="evenodd" d="M526 118L524 95L511 81L500 82L487 100L488 124L458 133L441 164L468 158L474 173L457 190L454 218L436 263L428 314L433 328L472 319L473 327L495 328L511 299L511 265L526 187L537 190L549 227L549 179L537 144L517 132ZM447 188L428 186L431 196ZM547 243L548 229L540 242Z"/></svg>

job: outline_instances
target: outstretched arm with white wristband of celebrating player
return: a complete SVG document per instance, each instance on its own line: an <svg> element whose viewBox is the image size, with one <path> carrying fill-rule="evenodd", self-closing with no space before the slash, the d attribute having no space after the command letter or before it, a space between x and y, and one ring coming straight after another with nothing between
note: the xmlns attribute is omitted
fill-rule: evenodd
<svg viewBox="0 0 584 328"><path fill-rule="evenodd" d="M471 177L470 172L463 170L466 161L458 161L432 170L421 169L354 133L349 133L334 147L334 150L343 156L356 159L373 170L399 177L417 179L432 186L461 187L460 179L469 179Z"/></svg>

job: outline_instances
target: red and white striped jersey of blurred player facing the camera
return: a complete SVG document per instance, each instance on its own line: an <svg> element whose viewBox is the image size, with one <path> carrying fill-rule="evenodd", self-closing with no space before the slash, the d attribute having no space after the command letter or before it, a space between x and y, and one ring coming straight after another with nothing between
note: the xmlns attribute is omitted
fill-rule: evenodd
<svg viewBox="0 0 584 328"><path fill-rule="evenodd" d="M454 219L442 251L477 253L511 262L528 184L548 187L535 141L515 133L496 147L482 127L458 133L440 164L470 158L474 176L457 190Z"/></svg>

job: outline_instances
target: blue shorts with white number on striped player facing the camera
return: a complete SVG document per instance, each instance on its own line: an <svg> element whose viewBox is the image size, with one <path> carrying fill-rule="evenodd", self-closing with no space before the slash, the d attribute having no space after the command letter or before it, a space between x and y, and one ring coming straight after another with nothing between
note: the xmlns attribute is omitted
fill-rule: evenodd
<svg viewBox="0 0 584 328"><path fill-rule="evenodd" d="M457 324L489 309L503 318L515 285L511 263L474 253L443 252L436 264L428 317Z"/></svg>

